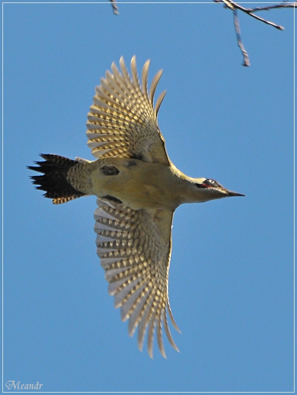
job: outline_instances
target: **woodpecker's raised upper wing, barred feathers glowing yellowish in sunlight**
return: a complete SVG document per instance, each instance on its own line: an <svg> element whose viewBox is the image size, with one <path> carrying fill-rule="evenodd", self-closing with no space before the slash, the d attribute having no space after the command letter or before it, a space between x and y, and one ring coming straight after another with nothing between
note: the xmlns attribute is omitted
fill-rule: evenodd
<svg viewBox="0 0 297 395"><path fill-rule="evenodd" d="M121 57L121 71L112 63L101 78L87 121L88 145L96 158L137 158L169 164L165 140L158 127L157 114L165 96L162 92L153 105L154 94L162 75L154 77L150 91L147 77L150 61L142 69L142 87L138 80L136 58L132 57L130 77Z"/></svg>

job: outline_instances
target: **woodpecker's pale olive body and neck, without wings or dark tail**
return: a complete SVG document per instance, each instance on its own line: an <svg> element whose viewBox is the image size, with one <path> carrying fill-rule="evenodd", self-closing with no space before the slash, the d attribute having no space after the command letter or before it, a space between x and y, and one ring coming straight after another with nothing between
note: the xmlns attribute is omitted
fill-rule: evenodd
<svg viewBox="0 0 297 395"><path fill-rule="evenodd" d="M118 170L117 174L109 174L113 168ZM106 196L114 197L134 210L174 211L182 203L216 198L213 194L209 196L207 189L198 191L195 184L205 179L187 177L172 163L104 158L73 166L68 172L68 180L75 189L87 195L95 195L102 200L108 200Z"/></svg>

